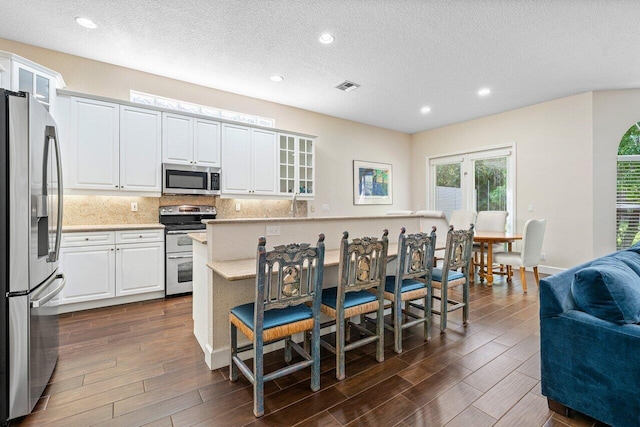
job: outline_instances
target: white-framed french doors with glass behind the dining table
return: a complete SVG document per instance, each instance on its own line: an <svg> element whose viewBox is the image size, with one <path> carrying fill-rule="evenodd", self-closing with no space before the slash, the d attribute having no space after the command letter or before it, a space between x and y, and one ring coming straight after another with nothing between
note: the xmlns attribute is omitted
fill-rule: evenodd
<svg viewBox="0 0 640 427"><path fill-rule="evenodd" d="M444 211L507 211L515 223L515 146L428 159L429 206Z"/></svg>

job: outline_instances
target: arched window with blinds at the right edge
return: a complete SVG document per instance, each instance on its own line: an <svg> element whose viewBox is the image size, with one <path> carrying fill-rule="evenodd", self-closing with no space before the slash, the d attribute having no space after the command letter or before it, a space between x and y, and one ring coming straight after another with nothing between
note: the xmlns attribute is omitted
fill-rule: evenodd
<svg viewBox="0 0 640 427"><path fill-rule="evenodd" d="M640 242L640 122L624 134L618 146L616 247Z"/></svg>

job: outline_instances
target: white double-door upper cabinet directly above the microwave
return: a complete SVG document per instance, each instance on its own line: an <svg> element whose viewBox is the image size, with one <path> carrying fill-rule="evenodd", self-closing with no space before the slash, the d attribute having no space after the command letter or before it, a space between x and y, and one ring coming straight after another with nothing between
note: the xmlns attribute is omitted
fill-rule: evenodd
<svg viewBox="0 0 640 427"><path fill-rule="evenodd" d="M220 167L220 123L163 113L162 161Z"/></svg>

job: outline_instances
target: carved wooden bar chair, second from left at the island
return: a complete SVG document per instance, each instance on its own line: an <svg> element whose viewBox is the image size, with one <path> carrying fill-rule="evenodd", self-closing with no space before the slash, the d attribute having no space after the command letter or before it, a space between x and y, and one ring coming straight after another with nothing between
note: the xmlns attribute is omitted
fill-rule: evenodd
<svg viewBox="0 0 640 427"><path fill-rule="evenodd" d="M389 232L384 230L382 239L361 237L349 241L349 233L344 232L340 243L340 261L337 286L322 291L321 310L335 322L335 346L321 339L321 344L336 355L336 378L345 378L345 352L377 341L376 360L384 361L384 280L387 268ZM376 329L366 328L365 315L376 313ZM351 322L360 316L360 324ZM350 340L350 329L356 329L364 338Z"/></svg>

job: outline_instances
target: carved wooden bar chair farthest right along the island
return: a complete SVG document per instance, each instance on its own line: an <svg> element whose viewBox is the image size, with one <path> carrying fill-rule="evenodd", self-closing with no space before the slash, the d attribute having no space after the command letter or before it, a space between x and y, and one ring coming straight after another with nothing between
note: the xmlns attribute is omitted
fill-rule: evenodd
<svg viewBox="0 0 640 427"><path fill-rule="evenodd" d="M471 264L471 249L473 247L473 225L468 230L454 230L449 227L447 245L444 251L442 268L434 268L431 283L440 295L433 294L434 299L440 300L439 308L435 305L432 313L440 315L440 333L446 332L447 314L462 309L462 321L469 320L469 274ZM462 301L449 298L449 289L462 286Z"/></svg>

